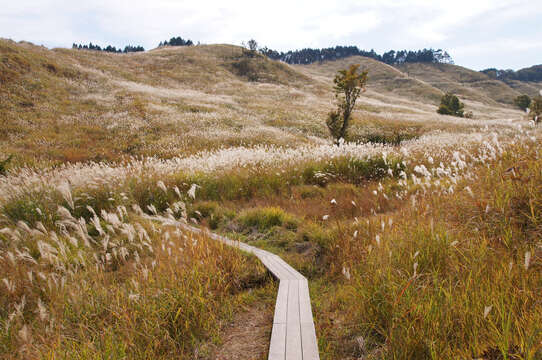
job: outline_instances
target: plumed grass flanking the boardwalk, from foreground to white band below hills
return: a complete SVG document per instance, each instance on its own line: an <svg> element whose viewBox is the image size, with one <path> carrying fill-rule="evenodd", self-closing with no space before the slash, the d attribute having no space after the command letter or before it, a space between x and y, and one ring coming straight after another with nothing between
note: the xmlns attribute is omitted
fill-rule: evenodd
<svg viewBox="0 0 542 360"><path fill-rule="evenodd" d="M536 359L539 139L507 122L399 146L11 170L0 178L0 353L190 358L218 341L243 289L267 278L254 259L184 233L184 219L237 222L263 246L281 237L273 249L311 278L324 358ZM297 194L307 206L292 216L282 207ZM225 205L241 211L212 218Z"/></svg>

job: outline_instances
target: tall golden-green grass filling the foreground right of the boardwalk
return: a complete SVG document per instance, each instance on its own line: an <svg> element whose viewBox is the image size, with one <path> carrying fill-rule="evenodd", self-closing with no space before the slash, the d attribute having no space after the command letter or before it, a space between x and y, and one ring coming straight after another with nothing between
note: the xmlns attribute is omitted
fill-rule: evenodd
<svg viewBox="0 0 542 360"><path fill-rule="evenodd" d="M316 321L330 354L541 358L541 164L536 147L514 147L470 177L470 192L340 229L325 279L342 280ZM334 316L342 330L326 325Z"/></svg>

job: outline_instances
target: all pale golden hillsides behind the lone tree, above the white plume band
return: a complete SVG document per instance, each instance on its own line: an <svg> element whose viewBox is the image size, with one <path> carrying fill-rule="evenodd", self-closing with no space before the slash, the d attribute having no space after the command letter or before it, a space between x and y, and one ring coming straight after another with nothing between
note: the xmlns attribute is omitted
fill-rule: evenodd
<svg viewBox="0 0 542 360"><path fill-rule="evenodd" d="M448 75L433 67L419 66L409 76L364 57L290 66L232 45L111 54L10 40L0 40L0 59L0 160L15 154L14 165L327 142L332 79L352 63L369 71L353 139L412 122L424 131L447 126L435 114L445 90L435 79ZM476 119L520 116L468 89L459 94Z"/></svg>

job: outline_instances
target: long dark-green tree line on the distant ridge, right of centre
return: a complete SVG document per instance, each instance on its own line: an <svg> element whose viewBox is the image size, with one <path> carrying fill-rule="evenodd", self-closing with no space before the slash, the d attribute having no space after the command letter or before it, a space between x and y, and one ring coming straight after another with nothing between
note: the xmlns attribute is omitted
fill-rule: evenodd
<svg viewBox="0 0 542 360"><path fill-rule="evenodd" d="M330 61L346 58L349 56L365 56L389 65L404 64L404 63L446 63L453 64L453 59L448 52L438 49L423 49L423 50L390 50L382 55L374 50L361 50L357 46L335 46L324 49L302 49L290 50L287 52L278 52L276 50L261 48L260 52L274 60L281 60L288 64L312 64L315 62Z"/></svg>

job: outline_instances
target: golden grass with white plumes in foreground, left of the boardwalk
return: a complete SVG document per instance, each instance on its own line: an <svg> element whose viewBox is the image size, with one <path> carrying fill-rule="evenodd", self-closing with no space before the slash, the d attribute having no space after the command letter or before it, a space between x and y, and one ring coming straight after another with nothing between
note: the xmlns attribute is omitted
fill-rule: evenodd
<svg viewBox="0 0 542 360"><path fill-rule="evenodd" d="M69 187L62 196L71 204ZM85 220L72 204L53 225L0 229L1 358L205 356L252 301L245 289L269 278L254 258L183 231L182 200L149 208L88 206Z"/></svg>

